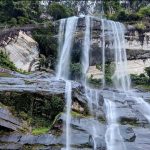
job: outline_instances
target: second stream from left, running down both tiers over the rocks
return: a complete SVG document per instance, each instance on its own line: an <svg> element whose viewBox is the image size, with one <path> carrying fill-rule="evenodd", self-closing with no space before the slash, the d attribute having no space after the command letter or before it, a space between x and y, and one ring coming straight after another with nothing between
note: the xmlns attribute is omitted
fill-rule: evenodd
<svg viewBox="0 0 150 150"><path fill-rule="evenodd" d="M90 25L90 22L92 21L93 19L90 18L89 16L85 17L86 29L85 29L84 42L83 42L83 51L82 51L82 75L83 75L83 85L85 86L85 94L88 100L88 107L90 109L90 113L94 116L93 103L97 105L98 97L96 97L97 93L95 92L95 90L91 89L86 81L86 73L89 68L89 52L90 52L91 37L92 37L92 34L90 32L90 29L92 29L92 24ZM95 100L95 102L93 100ZM95 138L98 137L96 131L99 125L97 124L97 122L96 121L91 122L91 127L92 127L91 135L93 139L94 150L96 150L97 148L97 143L95 141Z"/></svg>

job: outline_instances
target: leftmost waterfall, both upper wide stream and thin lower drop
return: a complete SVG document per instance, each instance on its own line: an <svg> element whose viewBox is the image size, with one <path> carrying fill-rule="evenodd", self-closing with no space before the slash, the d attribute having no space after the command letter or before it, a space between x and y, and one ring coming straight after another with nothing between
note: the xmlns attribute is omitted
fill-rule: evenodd
<svg viewBox="0 0 150 150"><path fill-rule="evenodd" d="M63 32L65 29L65 37L64 42L63 35L59 36L59 50L60 56L57 65L57 79L64 79L66 81L66 88L65 88L65 98L66 98L66 150L70 150L70 143L71 143L71 132L70 132L70 122L71 122L71 104L72 104L72 86L71 81L69 81L69 72L70 72L70 54L72 48L72 42L74 38L74 33L76 30L78 22L78 17L70 17L66 21L66 27L64 27L65 20L61 20L59 28L60 32ZM63 42L63 43L62 43ZM62 48L62 50L61 50Z"/></svg>

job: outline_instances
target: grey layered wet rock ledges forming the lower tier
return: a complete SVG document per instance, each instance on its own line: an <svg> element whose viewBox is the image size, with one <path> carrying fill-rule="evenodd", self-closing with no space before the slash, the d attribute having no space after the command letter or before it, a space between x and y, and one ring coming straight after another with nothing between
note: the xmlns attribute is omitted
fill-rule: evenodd
<svg viewBox="0 0 150 150"><path fill-rule="evenodd" d="M25 99L26 103L34 99L36 104L40 104L38 105L40 109L43 109L41 102L48 100L52 95L60 96L64 101L65 82L56 80L53 75L47 73L21 75L13 72L13 76L12 78L0 78L0 101L4 104L9 104L13 99L13 94L16 93L15 99L13 99L16 102L15 105L23 100L21 98L25 97L24 93L28 94ZM78 150L78 148L92 150L92 147L95 146L94 142L96 142L97 150L106 150L108 143L105 141L105 134L108 129L108 122L106 120L107 106L105 99L115 103L118 128L127 149L138 150L139 146L143 147L143 149L150 149L148 121L138 109L140 108L140 103L137 103L132 96L127 97L124 93L111 89L99 90L97 95L99 97L97 101L98 107L96 105L94 108L95 101L93 100L94 112L93 115L89 115L88 113L84 114L86 107L88 107L85 89L77 82L72 82L72 87L72 110L75 111L75 114L72 113L70 139L75 150ZM137 93L136 95L143 97L146 101L150 101L150 93ZM29 108L27 107L28 111ZM33 109L36 111L36 105ZM41 114L44 114L44 112ZM0 120L1 128L5 127L9 130L18 131L20 130L19 127L22 127L22 124L4 109L0 109L1 118L13 124L13 127L8 126ZM65 114L61 113L61 117L57 118L57 120L66 121ZM61 150L66 144L66 132L64 127L63 134L56 136L53 132L54 127L56 128L57 123L60 125L60 122L56 122L53 124L52 130L46 134L32 135L31 133L25 134L21 132L0 134L0 149L10 149L10 145L13 143L12 149L23 149L26 146L29 146L26 148L31 149L36 146L37 149ZM120 141L117 137L115 139L118 142Z"/></svg>

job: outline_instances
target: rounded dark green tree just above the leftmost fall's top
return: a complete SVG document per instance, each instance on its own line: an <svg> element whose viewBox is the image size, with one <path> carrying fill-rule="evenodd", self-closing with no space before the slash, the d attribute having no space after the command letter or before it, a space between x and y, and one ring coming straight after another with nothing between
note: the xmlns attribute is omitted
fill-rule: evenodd
<svg viewBox="0 0 150 150"><path fill-rule="evenodd" d="M73 15L71 9L59 3L50 4L48 7L48 13L53 17L54 20L67 18Z"/></svg>

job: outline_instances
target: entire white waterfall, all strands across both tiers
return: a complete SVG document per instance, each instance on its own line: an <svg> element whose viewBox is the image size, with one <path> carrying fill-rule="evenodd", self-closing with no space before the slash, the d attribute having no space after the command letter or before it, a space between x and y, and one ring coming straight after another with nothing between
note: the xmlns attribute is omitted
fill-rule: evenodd
<svg viewBox="0 0 150 150"><path fill-rule="evenodd" d="M100 20L100 19L99 19ZM99 137L97 131L99 124L96 123L98 120L98 109L99 109L99 90L90 88L86 74L89 69L89 53L91 47L91 28L93 18L90 16L85 16L85 33L83 39L82 47L82 84L85 87L85 96L88 101L88 107L90 114L94 121L91 122L90 132L93 139L93 149L97 149L96 138ZM74 33L76 31L78 18L70 17L68 19L63 19L60 22L59 28L59 61L57 65L57 79L63 79L66 82L65 87L65 98L66 98L66 149L70 150L71 143L71 104L72 104L72 85L69 81L70 76L70 58L71 49L73 46ZM127 72L127 56L125 50L125 39L124 32L125 27L119 22L114 22L110 20L101 19L102 35L101 35L101 47L102 47L102 71L103 71L103 87L105 86L105 42L110 40L112 43L112 51L114 52L114 64L115 71L112 75L113 83L118 90L122 90L125 94L130 90L130 77ZM110 48L110 47L109 47ZM135 98L136 101L137 98ZM105 134L105 140L107 145L107 150L126 150L123 138L120 134L119 124L117 123L117 112L115 105L115 97L111 100L104 99L106 107L107 116L107 130ZM142 101L141 101L142 102ZM145 107L147 108L146 104ZM144 112L143 112L144 113ZM149 112L145 112L147 114ZM97 121L98 122L98 121Z"/></svg>

